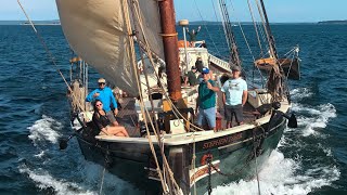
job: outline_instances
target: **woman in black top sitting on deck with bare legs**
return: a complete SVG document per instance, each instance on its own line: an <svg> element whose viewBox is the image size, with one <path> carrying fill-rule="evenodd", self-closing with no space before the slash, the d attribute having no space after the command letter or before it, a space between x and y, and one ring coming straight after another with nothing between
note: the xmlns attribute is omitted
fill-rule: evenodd
<svg viewBox="0 0 347 195"><path fill-rule="evenodd" d="M111 126L111 121L106 115L106 112L103 109L103 104L100 100L97 100L93 104L94 114L93 122L100 130L101 135L116 135L116 136L129 136L126 128L123 126Z"/></svg>

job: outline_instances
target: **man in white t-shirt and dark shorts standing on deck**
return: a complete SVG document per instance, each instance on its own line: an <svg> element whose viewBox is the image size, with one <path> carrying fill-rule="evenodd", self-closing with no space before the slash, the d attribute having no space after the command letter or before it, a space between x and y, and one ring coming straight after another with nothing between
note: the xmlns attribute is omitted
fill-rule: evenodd
<svg viewBox="0 0 347 195"><path fill-rule="evenodd" d="M233 66L232 78L227 80L221 88L227 128L232 128L233 115L235 115L237 125L243 125L243 106L247 101L247 83L240 77L240 74L241 67Z"/></svg>

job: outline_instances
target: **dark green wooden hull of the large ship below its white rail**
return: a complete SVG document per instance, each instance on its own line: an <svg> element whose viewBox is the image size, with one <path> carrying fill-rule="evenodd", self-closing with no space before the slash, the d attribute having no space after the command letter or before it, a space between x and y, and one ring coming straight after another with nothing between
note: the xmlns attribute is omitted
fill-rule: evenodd
<svg viewBox="0 0 347 195"><path fill-rule="evenodd" d="M190 174L192 169L193 143L182 145L165 145L165 155L168 158L177 183L184 194L194 193L194 184L197 194L205 193L208 185L208 167L204 165L206 155L211 156L213 165L222 176L216 171L210 174L210 185L228 184L240 179L250 179L255 172L254 133L258 140L260 154L257 157L258 170L269 157L283 133L286 119L274 116L268 123L255 129L228 133L222 136L203 140L195 143L196 171ZM88 139L81 131L77 135L81 152L87 160L105 166L108 172L128 181L134 188L146 194L159 194L160 182L157 181L155 164L147 143L119 143ZM160 153L157 145L155 150L162 165ZM205 168L204 168L205 167ZM197 170L200 169L200 170ZM195 178L195 180L194 180ZM196 178L200 178L197 180Z"/></svg>

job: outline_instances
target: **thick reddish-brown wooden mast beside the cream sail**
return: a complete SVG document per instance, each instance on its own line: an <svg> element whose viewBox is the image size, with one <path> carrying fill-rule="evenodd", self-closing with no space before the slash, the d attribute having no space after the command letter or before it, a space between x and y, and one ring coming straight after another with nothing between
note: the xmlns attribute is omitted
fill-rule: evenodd
<svg viewBox="0 0 347 195"><path fill-rule="evenodd" d="M158 1L166 62L167 86L174 102L182 99L174 0Z"/></svg>

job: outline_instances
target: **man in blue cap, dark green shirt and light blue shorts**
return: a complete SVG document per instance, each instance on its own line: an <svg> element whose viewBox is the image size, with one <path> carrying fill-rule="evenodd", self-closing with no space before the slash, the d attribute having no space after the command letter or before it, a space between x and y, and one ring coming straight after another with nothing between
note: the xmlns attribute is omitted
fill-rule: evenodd
<svg viewBox="0 0 347 195"><path fill-rule="evenodd" d="M198 84L198 96L196 105L198 106L197 125L200 127L206 127L216 131L216 92L219 88L216 87L216 82L209 78L209 69L203 68L203 81Z"/></svg>

